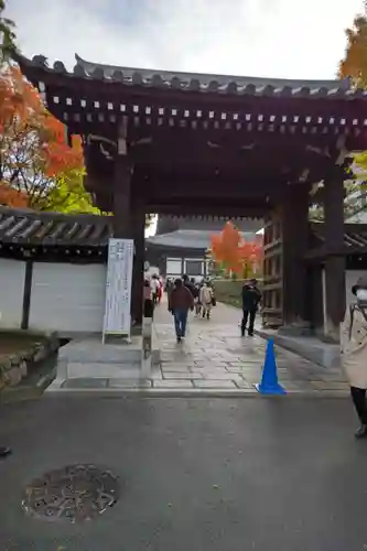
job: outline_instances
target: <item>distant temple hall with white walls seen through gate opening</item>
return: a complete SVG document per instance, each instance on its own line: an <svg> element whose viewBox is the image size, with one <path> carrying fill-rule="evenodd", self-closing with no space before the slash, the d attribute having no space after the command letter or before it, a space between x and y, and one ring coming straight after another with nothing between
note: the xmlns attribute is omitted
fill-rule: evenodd
<svg viewBox="0 0 367 551"><path fill-rule="evenodd" d="M186 273L202 279L209 274L207 250L212 236L223 230L228 218L216 216L160 216L154 236L145 240L145 258L164 277ZM255 241L261 220L231 220L242 238Z"/></svg>

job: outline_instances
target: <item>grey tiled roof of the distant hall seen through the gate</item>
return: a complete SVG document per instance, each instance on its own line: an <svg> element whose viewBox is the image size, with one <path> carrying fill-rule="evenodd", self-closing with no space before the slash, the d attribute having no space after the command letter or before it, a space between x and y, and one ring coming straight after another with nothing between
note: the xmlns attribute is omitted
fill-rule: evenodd
<svg viewBox="0 0 367 551"><path fill-rule="evenodd" d="M211 239L214 234L219 231L203 230L203 229L179 229L170 234L160 234L147 239L148 245L158 247L173 247L206 250L211 247ZM241 236L247 241L255 240L255 233L241 233Z"/></svg>

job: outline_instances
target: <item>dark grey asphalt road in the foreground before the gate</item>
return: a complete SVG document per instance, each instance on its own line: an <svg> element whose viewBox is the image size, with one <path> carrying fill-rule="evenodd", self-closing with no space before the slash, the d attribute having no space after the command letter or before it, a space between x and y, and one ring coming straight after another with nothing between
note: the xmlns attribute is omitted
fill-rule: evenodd
<svg viewBox="0 0 367 551"><path fill-rule="evenodd" d="M51 397L0 415L1 551L367 549L347 399ZM74 463L118 475L117 505L83 525L26 518L24 486Z"/></svg>

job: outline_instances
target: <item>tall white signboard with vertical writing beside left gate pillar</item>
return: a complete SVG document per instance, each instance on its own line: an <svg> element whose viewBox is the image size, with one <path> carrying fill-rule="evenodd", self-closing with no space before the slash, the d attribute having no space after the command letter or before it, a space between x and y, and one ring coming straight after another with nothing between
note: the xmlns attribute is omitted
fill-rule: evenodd
<svg viewBox="0 0 367 551"><path fill-rule="evenodd" d="M133 240L110 238L102 343L108 335L130 339L132 262Z"/></svg>

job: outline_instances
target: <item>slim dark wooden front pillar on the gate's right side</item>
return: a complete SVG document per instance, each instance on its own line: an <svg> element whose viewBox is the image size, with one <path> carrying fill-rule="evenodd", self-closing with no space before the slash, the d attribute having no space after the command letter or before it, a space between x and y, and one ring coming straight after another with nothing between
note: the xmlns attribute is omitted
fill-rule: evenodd
<svg viewBox="0 0 367 551"><path fill-rule="evenodd" d="M345 312L345 257L344 248L344 182L339 168L324 183L324 320L325 337L339 341L339 324ZM337 255L338 252L338 255Z"/></svg>

